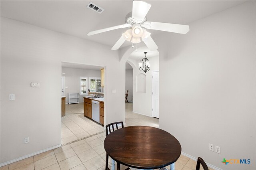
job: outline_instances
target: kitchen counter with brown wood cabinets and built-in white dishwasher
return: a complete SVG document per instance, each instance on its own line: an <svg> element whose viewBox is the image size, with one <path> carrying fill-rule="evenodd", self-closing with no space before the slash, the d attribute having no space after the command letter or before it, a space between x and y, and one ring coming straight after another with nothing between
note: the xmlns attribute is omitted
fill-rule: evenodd
<svg viewBox="0 0 256 170"><path fill-rule="evenodd" d="M94 103L98 102L99 106L93 109L92 105L94 105L94 103L92 103L92 101L94 101ZM97 114L97 112L99 112L99 114ZM104 125L104 98L95 98L92 96L84 97L84 117L88 117Z"/></svg>

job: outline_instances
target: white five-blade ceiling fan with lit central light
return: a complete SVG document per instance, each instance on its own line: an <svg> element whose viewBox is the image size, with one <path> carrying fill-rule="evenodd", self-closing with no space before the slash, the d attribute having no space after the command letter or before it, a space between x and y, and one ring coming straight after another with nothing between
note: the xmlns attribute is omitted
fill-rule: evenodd
<svg viewBox="0 0 256 170"><path fill-rule="evenodd" d="M91 36L94 34L116 30L119 28L129 28L128 30L126 30L126 32L122 34L120 39L115 43L115 45L112 47L112 50L119 49L119 47L126 40L135 44L140 43L142 40L146 44L148 49L150 49L150 51L153 51L158 49L158 46L156 45L154 40L151 38L150 36L151 33L147 32L145 28L150 30L174 32L179 34L186 34L189 31L189 26L187 25L161 23L161 22L148 22L146 15L150 7L151 7L151 4L148 4L143 1L134 0L132 2L132 12L126 15L126 24L92 31L92 32L89 32L87 35Z"/></svg>

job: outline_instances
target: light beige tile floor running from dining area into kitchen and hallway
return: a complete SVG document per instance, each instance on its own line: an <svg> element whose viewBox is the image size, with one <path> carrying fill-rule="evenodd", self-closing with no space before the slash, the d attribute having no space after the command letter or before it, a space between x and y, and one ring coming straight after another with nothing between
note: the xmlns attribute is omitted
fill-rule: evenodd
<svg viewBox="0 0 256 170"><path fill-rule="evenodd" d="M132 113L132 103L126 103L125 126L133 125L158 127L158 119ZM3 166L0 169L104 170L106 152L103 142L105 137L106 134L101 125L83 116L83 103L66 105L66 116L62 117L63 146ZM83 139L79 140L81 138ZM78 141L72 142L74 140ZM125 168L126 166L121 165L121 169ZM169 168L170 166L168 166ZM196 161L183 155L175 163L176 170L195 170L195 168Z"/></svg>

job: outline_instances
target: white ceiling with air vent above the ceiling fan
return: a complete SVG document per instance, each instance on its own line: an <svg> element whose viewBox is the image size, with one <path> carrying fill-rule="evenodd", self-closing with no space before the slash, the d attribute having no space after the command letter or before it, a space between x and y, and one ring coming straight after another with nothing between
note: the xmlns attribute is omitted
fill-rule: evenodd
<svg viewBox="0 0 256 170"><path fill-rule="evenodd" d="M105 9L102 14L86 8L89 2L87 0L1 0L1 16L109 45L111 48L127 28L93 36L86 34L90 31L124 24L126 14L132 11L132 0L92 0L94 4ZM189 24L246 1L150 0L146 2L152 4L147 15L148 21ZM150 32L153 39L154 36L164 33L154 30ZM174 33L166 32L165 34ZM131 44L126 42L122 47L125 45Z"/></svg>

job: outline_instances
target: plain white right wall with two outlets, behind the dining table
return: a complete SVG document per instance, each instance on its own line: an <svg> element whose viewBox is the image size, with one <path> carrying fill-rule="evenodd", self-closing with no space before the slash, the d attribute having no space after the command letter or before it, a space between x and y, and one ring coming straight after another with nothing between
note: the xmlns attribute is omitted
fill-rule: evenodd
<svg viewBox="0 0 256 170"><path fill-rule="evenodd" d="M182 152L221 169L256 169L255 6L246 2L190 23L186 35L156 40L159 127L180 141ZM223 158L251 163L225 165Z"/></svg>

